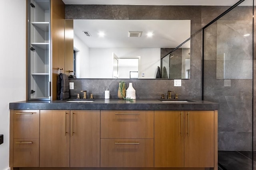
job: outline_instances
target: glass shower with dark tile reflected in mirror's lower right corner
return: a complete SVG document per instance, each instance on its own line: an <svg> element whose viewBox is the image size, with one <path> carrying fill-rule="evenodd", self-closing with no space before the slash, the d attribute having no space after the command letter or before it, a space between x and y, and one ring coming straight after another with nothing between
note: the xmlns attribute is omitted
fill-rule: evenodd
<svg viewBox="0 0 256 170"><path fill-rule="evenodd" d="M190 38L161 59L161 78L190 78Z"/></svg>

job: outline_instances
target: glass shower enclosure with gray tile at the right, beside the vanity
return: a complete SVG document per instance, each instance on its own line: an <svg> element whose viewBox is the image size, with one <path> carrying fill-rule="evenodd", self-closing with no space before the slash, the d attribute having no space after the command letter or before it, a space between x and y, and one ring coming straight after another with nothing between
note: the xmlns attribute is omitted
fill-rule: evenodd
<svg viewBox="0 0 256 170"><path fill-rule="evenodd" d="M220 169L256 170L253 161L253 0L240 0L203 28L203 100L220 104Z"/></svg>

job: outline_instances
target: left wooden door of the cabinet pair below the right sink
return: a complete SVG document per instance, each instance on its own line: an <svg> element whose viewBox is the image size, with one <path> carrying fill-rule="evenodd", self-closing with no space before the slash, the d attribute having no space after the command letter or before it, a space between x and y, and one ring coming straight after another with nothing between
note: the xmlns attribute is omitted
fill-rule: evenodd
<svg viewBox="0 0 256 170"><path fill-rule="evenodd" d="M155 167L184 167L183 111L155 111Z"/></svg>

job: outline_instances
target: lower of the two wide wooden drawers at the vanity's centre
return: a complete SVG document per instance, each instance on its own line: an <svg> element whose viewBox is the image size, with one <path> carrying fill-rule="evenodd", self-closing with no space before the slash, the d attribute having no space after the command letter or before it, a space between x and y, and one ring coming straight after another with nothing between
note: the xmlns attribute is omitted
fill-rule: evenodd
<svg viewBox="0 0 256 170"><path fill-rule="evenodd" d="M154 167L154 139L100 139L101 167Z"/></svg>

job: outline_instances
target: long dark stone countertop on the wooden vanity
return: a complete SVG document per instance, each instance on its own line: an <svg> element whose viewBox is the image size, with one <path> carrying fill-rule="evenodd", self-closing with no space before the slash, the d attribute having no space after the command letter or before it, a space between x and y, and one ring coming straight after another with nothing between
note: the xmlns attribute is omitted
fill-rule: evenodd
<svg viewBox="0 0 256 170"><path fill-rule="evenodd" d="M75 99L74 99L75 100ZM129 102L120 99L93 99L94 102L20 101L9 104L10 109L40 110L218 110L219 104L190 100L187 103L164 103L158 99L136 99Z"/></svg>

